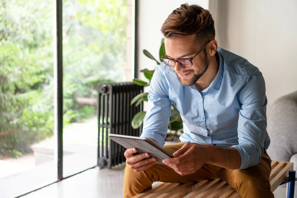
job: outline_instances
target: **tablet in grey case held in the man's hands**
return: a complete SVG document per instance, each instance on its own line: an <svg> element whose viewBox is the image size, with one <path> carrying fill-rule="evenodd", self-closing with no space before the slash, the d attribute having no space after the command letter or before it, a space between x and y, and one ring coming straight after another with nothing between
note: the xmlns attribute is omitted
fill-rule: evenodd
<svg viewBox="0 0 297 198"><path fill-rule="evenodd" d="M119 143L125 148L137 148L137 153L150 153L150 157L157 158L157 164L164 164L163 159L172 158L170 153L155 145L152 141L145 137L135 137L128 135L109 134L111 140Z"/></svg>

